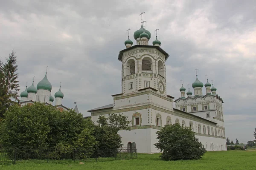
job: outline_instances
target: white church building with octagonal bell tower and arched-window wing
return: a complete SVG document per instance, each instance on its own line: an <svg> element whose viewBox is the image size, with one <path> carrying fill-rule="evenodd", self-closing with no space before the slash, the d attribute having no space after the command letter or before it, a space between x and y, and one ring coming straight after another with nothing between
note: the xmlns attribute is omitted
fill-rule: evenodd
<svg viewBox="0 0 256 170"><path fill-rule="evenodd" d="M166 124L179 123L191 127L196 137L208 151L226 150L225 129L223 121L223 100L216 94L216 88L203 83L196 77L192 92L180 88L181 97L166 93L166 60L169 54L160 48L159 40L148 45L151 33L141 28L134 32L133 42L128 36L126 48L119 52L118 60L122 62L122 93L113 96L110 105L91 109L91 119L97 122L99 116L111 113L123 113L131 120L131 131L120 130L124 147L137 147L140 153L158 153L154 146L157 142L156 132ZM176 102L176 108L173 108Z"/></svg>

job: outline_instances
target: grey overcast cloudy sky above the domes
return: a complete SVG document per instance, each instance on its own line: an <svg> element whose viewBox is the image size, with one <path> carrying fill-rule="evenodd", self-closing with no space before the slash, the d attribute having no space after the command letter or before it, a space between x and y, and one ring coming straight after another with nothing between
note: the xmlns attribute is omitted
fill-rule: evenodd
<svg viewBox="0 0 256 170"><path fill-rule="evenodd" d="M205 75L224 100L226 136L253 139L256 127L256 2L254 0L0 0L0 58L15 50L20 92L48 68L52 95L62 82L63 105L86 111L112 103L121 92L119 51L127 29L159 31L166 61L167 93L180 96ZM133 36L131 36L133 37ZM135 40L132 38L133 42ZM205 93L205 90L204 90Z"/></svg>

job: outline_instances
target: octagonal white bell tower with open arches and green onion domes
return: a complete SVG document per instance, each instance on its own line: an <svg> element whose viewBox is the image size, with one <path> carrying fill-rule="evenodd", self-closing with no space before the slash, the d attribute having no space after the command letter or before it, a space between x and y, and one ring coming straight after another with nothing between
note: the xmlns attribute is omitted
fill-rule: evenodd
<svg viewBox="0 0 256 170"><path fill-rule="evenodd" d="M122 62L122 94L152 88L166 95L165 62L169 54L160 48L161 42L157 37L157 43L154 41L153 45L148 45L151 33L145 29L143 23L145 21L142 20L141 28L134 32L137 45L132 46L133 42L128 38L129 42L125 41L126 49L119 52L118 59Z"/></svg>

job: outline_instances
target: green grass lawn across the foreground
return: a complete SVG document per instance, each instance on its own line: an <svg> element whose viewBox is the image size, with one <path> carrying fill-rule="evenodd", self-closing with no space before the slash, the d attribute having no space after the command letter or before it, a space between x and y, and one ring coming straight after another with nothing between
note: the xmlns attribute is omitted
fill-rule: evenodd
<svg viewBox="0 0 256 170"><path fill-rule="evenodd" d="M137 159L61 163L17 162L0 170L256 170L256 151L207 152L199 160L161 161L160 154L138 154Z"/></svg>

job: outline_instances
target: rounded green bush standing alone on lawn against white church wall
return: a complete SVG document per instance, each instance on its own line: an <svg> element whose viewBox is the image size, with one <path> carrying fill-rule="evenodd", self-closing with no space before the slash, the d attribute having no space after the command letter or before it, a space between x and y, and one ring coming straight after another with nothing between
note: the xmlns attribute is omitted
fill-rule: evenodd
<svg viewBox="0 0 256 170"><path fill-rule="evenodd" d="M159 141L154 145L163 152L160 158L166 161L200 159L206 152L195 133L179 124L165 125L157 131L157 139Z"/></svg>

